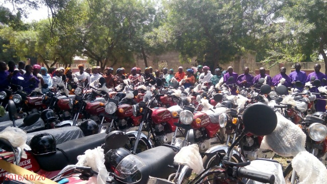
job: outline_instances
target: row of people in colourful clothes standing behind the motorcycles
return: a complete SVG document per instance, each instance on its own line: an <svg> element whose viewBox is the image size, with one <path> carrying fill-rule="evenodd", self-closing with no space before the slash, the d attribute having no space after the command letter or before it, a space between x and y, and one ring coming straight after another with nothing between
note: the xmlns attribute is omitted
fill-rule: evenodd
<svg viewBox="0 0 327 184"><path fill-rule="evenodd" d="M78 65L79 71L73 73L72 69L67 68L56 68L52 67L50 71L45 67L40 65L26 65L24 61L18 63L16 68L16 63L13 61L7 64L3 61L0 62L0 90L7 88L7 86L12 84L20 85L26 91L30 93L35 88L48 85L48 88L42 88L43 91L48 90L50 87L55 87L57 84L74 81L77 78L77 83L80 86L86 86L87 83L92 83L98 80L100 77L106 79L106 86L108 88L116 87L117 84L123 83L124 79L129 79L131 83L136 84L138 82L149 82L151 84L155 83L156 79L165 78L167 84L173 84L172 78L176 78L178 82L184 85L185 88L194 85L196 82L203 83L204 85L216 85L219 81L223 80L226 83L237 84L239 87L250 87L255 83L258 83L260 78L265 78L266 83L272 86L285 85L286 87L294 87L302 89L301 87L295 86L295 81L301 81L303 86L305 82L310 81L310 77L314 76L316 79L321 80L326 78L324 73L320 72L320 64L315 64L314 72L310 73L308 76L304 71L301 71L301 65L299 63L295 64L295 71L291 72L289 75L286 74L286 68L281 67L280 73L274 77L266 74L264 67L259 69L260 74L253 76L251 75L250 68L244 67L243 73L238 75L233 71L233 68L229 66L227 70L222 70L217 68L214 70L214 74L211 74L210 68L208 66L198 65L198 67L192 67L184 72L184 68L180 66L178 71L174 74L174 69L163 68L162 73L158 69L154 70L152 67L146 67L144 73L141 73L141 68L133 67L131 69L131 74L126 74L125 68L118 68L116 74L114 75L114 69L111 67L105 68L102 73L102 69L99 66L94 66L92 68L84 68L83 64ZM91 73L92 72L92 73ZM63 77L65 76L65 77ZM228 81L228 78L233 76L232 81ZM19 79L19 77L23 77ZM221 79L222 78L222 79ZM76 81L75 81L76 82ZM311 91L315 91L315 88L311 88ZM236 95L236 88L231 89L231 94ZM324 111L325 102L318 101L316 104L317 111Z"/></svg>

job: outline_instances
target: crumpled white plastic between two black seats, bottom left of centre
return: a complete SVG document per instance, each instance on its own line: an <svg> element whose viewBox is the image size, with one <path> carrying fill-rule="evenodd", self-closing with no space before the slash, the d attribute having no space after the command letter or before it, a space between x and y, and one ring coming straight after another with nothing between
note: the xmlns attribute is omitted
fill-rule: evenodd
<svg viewBox="0 0 327 184"><path fill-rule="evenodd" d="M97 177L92 176L88 183L105 184L108 176L108 172L105 166L105 154L104 150L99 146L95 149L88 149L84 155L77 156L78 166L88 166L92 170L98 172Z"/></svg>

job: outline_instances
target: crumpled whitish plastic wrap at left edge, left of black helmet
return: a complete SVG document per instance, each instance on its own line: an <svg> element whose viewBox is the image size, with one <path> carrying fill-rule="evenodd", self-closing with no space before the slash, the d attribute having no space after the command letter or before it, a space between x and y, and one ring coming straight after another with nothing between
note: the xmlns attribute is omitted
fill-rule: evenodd
<svg viewBox="0 0 327 184"><path fill-rule="evenodd" d="M7 127L4 131L0 132L0 137L7 139L13 147L20 147L23 151L22 158L27 158L26 150L31 148L26 144L26 133L19 128Z"/></svg>

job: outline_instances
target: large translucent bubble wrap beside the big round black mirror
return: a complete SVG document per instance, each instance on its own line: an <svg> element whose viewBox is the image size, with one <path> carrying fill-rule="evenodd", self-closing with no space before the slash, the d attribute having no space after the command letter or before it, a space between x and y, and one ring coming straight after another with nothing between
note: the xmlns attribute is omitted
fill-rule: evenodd
<svg viewBox="0 0 327 184"><path fill-rule="evenodd" d="M266 135L260 148L271 149L281 156L295 156L300 151L305 151L306 135L290 120L280 113L276 113L278 123L276 129Z"/></svg>

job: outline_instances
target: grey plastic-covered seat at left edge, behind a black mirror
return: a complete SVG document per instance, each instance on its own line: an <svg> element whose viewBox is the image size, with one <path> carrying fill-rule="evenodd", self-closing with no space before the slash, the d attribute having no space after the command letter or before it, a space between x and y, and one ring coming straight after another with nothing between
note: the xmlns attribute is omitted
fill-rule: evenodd
<svg viewBox="0 0 327 184"><path fill-rule="evenodd" d="M16 126L20 127L23 126L23 121L24 119L18 119L15 121ZM1 122L0 123L0 132L3 131L6 127L13 127L14 124L12 121L5 121L5 122ZM23 126L20 129L25 130L26 132L33 132L37 129L44 129L44 122L43 120L40 118L35 124L31 125L31 126Z"/></svg>

